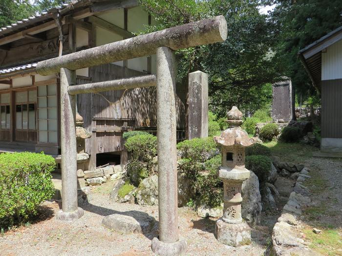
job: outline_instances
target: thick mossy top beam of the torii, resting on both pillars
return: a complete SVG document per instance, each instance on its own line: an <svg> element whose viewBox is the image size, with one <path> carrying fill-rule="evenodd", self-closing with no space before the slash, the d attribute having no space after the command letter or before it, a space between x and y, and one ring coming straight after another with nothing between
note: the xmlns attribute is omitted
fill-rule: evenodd
<svg viewBox="0 0 342 256"><path fill-rule="evenodd" d="M59 73L61 68L76 70L124 59L144 57L156 53L158 47L172 50L222 42L227 38L227 21L223 16L200 20L146 35L137 36L94 48L47 59L37 64L40 75Z"/></svg>

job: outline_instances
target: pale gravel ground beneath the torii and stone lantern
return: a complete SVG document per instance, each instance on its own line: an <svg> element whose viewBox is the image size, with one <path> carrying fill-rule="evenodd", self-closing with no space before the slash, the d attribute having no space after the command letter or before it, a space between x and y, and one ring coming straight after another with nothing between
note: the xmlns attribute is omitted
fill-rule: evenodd
<svg viewBox="0 0 342 256"><path fill-rule="evenodd" d="M140 256L152 255L151 239L157 235L157 224L153 233L147 235L122 235L101 225L104 216L140 211L158 220L158 207L139 206L129 203L119 204L108 197L94 194L89 205L80 205L85 210L84 217L72 223L55 220L58 204L46 203L45 212L49 217L27 227L20 227L0 237L1 256ZM269 228L258 226L252 229L252 244L234 248L217 242L214 237L215 219L202 219L187 207L179 208L180 235L188 242L191 256L260 256L265 251Z"/></svg>

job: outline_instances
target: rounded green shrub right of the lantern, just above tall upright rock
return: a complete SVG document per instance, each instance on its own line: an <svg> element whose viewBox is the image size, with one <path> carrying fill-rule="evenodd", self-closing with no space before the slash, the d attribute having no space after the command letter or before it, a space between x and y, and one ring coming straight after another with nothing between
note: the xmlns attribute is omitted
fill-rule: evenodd
<svg viewBox="0 0 342 256"><path fill-rule="evenodd" d="M264 183L271 172L271 163L272 160L269 157L253 155L246 157L245 166L256 174L259 183Z"/></svg>

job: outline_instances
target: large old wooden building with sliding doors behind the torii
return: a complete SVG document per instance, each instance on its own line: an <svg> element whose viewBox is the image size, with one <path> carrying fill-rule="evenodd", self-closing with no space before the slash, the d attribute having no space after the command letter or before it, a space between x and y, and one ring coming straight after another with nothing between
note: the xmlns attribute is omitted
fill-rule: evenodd
<svg viewBox="0 0 342 256"><path fill-rule="evenodd" d="M136 0L77 0L0 28L0 150L60 154L59 75L40 76L36 63L133 37L154 20ZM155 56L128 59L77 70L77 83L98 82L155 73ZM177 127L184 137L186 88L177 87ZM155 131L155 88L79 95L77 111L84 127L89 169L96 155L118 155L124 161L122 133ZM119 162L116 162L117 164Z"/></svg>

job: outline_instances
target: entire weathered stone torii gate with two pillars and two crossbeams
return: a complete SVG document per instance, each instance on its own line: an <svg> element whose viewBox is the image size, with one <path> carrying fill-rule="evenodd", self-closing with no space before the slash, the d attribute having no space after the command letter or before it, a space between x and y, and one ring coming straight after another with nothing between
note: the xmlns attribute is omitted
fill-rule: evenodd
<svg viewBox="0 0 342 256"><path fill-rule="evenodd" d="M176 157L176 65L174 51L224 41L227 22L223 16L200 20L146 35L47 59L37 64L37 72L61 76L62 210L57 219L72 221L83 216L77 205L76 94L108 90L157 87L159 239L152 240L157 255L179 255L187 243L179 239L177 213ZM157 73L112 81L75 85L76 70L125 59L156 54Z"/></svg>

